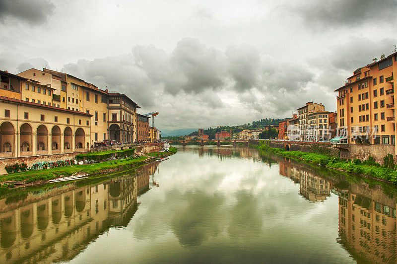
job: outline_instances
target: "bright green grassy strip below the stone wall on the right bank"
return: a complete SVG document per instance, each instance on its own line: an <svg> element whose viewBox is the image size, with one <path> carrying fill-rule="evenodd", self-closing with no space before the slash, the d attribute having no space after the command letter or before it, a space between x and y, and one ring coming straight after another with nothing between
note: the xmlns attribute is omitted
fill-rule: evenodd
<svg viewBox="0 0 397 264"><path fill-rule="evenodd" d="M360 161L359 159L346 160L342 158L331 157L325 154L286 151L279 148L269 147L266 143L254 147L271 151L286 157L300 159L307 163L327 166L333 169L339 169L350 173L387 180L395 184L397 183L397 171L394 169L394 165L390 165L389 163L389 166L381 166L371 157L366 161Z"/></svg>

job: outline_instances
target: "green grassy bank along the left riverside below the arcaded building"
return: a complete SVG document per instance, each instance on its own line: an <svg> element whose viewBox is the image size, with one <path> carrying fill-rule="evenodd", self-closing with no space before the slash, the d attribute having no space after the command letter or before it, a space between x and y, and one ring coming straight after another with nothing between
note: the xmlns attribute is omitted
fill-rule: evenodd
<svg viewBox="0 0 397 264"><path fill-rule="evenodd" d="M170 152L152 152L148 153L149 156L159 157L168 156L175 154L177 149L175 147L170 147ZM7 181L24 181L25 183L33 183L40 181L48 181L59 177L70 176L75 173L88 173L89 175L98 173L109 173L115 171L122 171L126 169L132 169L144 163L148 157L135 157L135 158L124 158L112 161L105 161L95 164L86 165L71 165L65 167L58 167L52 169L42 169L42 170L30 170L25 172L11 173L0 175L0 183ZM9 186L4 186L9 187ZM12 186L10 186L12 187Z"/></svg>

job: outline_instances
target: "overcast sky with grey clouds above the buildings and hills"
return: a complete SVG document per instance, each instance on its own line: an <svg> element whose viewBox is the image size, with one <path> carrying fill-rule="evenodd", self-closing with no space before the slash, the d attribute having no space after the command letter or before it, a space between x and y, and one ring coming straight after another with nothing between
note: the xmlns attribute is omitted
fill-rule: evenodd
<svg viewBox="0 0 397 264"><path fill-rule="evenodd" d="M0 69L78 76L159 129L334 111L334 89L397 44L396 0L1 0Z"/></svg>

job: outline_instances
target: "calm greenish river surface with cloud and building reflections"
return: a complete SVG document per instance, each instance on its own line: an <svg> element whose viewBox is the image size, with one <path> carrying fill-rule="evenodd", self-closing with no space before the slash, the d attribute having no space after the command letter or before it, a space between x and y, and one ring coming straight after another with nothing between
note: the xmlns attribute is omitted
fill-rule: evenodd
<svg viewBox="0 0 397 264"><path fill-rule="evenodd" d="M396 263L396 188L247 146L0 199L0 263Z"/></svg>

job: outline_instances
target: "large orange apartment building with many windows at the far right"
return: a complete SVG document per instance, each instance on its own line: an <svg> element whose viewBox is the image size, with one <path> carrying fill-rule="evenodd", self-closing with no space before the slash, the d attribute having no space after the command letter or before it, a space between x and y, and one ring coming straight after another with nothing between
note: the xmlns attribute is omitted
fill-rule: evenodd
<svg viewBox="0 0 397 264"><path fill-rule="evenodd" d="M395 144L397 53L360 67L335 92L338 131L349 143ZM396 152L397 153L397 152Z"/></svg>

